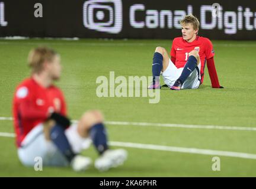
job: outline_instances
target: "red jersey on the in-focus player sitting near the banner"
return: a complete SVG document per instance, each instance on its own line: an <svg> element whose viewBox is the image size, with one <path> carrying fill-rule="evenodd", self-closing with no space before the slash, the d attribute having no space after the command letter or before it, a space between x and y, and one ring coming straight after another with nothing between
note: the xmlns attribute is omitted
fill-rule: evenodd
<svg viewBox="0 0 256 189"><path fill-rule="evenodd" d="M203 76L206 60L212 58L215 54L212 42L208 38L197 36L196 40L191 43L183 40L183 37L174 38L172 41L171 57L176 58L175 66L177 68L184 67L188 59L188 53L192 50L199 51L201 76Z"/></svg>

